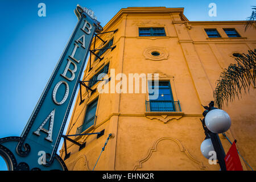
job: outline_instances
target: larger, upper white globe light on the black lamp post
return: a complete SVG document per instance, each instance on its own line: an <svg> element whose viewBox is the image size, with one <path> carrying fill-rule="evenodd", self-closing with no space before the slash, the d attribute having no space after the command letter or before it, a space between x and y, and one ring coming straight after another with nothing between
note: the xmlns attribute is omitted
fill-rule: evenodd
<svg viewBox="0 0 256 182"><path fill-rule="evenodd" d="M213 109L205 116L205 126L213 133L224 133L231 126L231 119L224 110Z"/></svg>

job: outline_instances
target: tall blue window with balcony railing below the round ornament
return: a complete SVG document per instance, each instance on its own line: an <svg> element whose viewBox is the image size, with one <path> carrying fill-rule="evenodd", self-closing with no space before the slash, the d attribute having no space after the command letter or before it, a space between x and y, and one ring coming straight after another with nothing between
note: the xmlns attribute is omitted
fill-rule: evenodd
<svg viewBox="0 0 256 182"><path fill-rule="evenodd" d="M158 98L154 99L154 93L149 94L150 101L147 101L149 105L146 102L146 107L150 111L180 111L179 101L175 102L172 96L170 81L159 81L158 86L152 81L151 88L158 89Z"/></svg>

